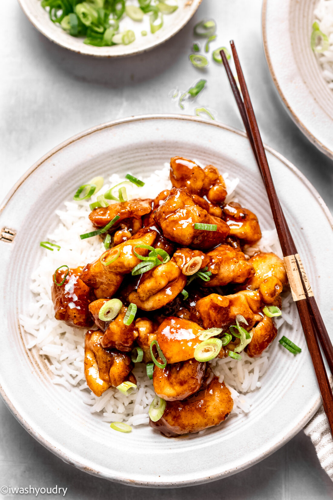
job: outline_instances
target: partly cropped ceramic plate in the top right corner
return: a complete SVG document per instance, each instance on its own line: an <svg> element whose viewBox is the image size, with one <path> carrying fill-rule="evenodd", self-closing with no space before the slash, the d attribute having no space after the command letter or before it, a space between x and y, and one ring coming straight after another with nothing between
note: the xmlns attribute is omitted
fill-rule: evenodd
<svg viewBox="0 0 333 500"><path fill-rule="evenodd" d="M264 48L274 83L295 123L333 158L333 90L310 45L316 3L264 0Z"/></svg>

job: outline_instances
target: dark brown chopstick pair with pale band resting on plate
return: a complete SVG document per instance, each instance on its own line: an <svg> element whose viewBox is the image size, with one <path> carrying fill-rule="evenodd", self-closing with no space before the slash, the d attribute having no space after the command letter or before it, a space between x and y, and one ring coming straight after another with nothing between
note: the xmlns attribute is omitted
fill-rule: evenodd
<svg viewBox="0 0 333 500"><path fill-rule="evenodd" d="M315 368L318 385L322 394L323 406L328 418L331 434L333 436L333 393L331 390L330 381L326 372L318 340L322 345L326 360L332 374L333 346L274 187L272 175L265 153L265 148L260 135L249 91L245 82L244 74L233 40L231 40L230 45L243 98L238 89L234 75L230 69L224 50L221 50L220 52L221 57L266 187L274 222L277 228L282 252L284 255L284 262L292 289L293 299L296 302L297 309L300 315L303 331Z"/></svg>

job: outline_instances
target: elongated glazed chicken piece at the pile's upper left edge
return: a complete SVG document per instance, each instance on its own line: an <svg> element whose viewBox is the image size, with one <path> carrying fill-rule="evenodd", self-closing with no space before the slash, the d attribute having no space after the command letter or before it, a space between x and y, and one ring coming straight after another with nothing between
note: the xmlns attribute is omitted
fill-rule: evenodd
<svg viewBox="0 0 333 500"><path fill-rule="evenodd" d="M151 211L151 204L152 199L130 199L123 203L110 203L105 208L94 208L89 213L89 219L94 227L99 228L104 227L113 217L119 215L120 218L112 226L114 228L118 227L124 219L141 219L143 215Z"/></svg>

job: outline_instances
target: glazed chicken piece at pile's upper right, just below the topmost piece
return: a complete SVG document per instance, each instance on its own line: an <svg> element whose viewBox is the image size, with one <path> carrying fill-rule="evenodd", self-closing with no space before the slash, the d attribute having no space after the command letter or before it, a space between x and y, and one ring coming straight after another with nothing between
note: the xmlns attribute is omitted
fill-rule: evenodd
<svg viewBox="0 0 333 500"><path fill-rule="evenodd" d="M223 207L224 220L230 228L230 235L246 243L255 243L261 238L257 216L239 203L230 202Z"/></svg>

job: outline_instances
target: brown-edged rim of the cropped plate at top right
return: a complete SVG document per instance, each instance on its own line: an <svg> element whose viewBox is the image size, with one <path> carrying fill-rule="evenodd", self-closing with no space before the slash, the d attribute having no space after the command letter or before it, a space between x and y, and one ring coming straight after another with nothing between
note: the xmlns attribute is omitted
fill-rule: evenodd
<svg viewBox="0 0 333 500"><path fill-rule="evenodd" d="M310 130L306 127L306 125L303 123L303 121L298 117L298 115L295 113L295 111L292 109L291 104L287 100L279 82L277 75L274 71L272 59L270 56L270 51L268 47L268 38L267 38L267 4L268 0L263 0L263 7L262 7L262 37L263 37L263 45L264 45L264 52L265 52L265 57L266 57L266 62L271 74L271 77L273 79L274 85L276 89L279 92L279 95L285 104L291 118L293 121L296 123L296 125L300 128L300 130L304 133L304 135L312 142L320 151L325 153L327 156L333 159L333 150L330 149L328 146L326 146L321 140L319 140Z"/></svg>

